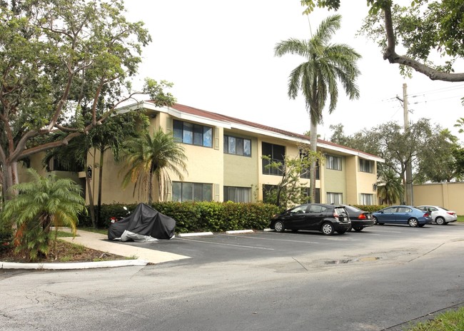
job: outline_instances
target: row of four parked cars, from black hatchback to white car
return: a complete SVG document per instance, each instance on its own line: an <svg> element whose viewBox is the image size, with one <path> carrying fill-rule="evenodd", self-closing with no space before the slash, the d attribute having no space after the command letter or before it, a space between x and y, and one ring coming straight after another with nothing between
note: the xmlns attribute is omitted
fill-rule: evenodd
<svg viewBox="0 0 464 331"><path fill-rule="evenodd" d="M274 215L269 227L276 232L317 230L324 235L332 235L335 232L343 234L351 229L359 232L364 228L386 223L422 228L432 222L446 225L457 219L458 215L453 210L435 205L392 205L369 213L351 205L306 203Z"/></svg>

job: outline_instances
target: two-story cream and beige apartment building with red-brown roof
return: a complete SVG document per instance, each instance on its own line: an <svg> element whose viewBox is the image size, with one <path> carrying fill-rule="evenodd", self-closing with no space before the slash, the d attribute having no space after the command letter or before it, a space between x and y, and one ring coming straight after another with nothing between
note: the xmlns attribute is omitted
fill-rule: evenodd
<svg viewBox="0 0 464 331"><path fill-rule="evenodd" d="M281 175L265 167L262 156L283 160L298 156L308 136L263 126L238 118L174 104L156 107L150 101L134 103L121 112L141 109L151 121L150 131L161 128L183 144L187 170L183 180L171 175L167 200L213 200L256 202L263 199L268 185L276 185ZM377 163L382 158L362 151L318 140L318 151L326 156L318 168L316 201L321 203L375 204ZM99 167L98 153L89 154L88 165ZM146 201L141 192L121 188L121 165L114 162L111 151L104 156L102 203L137 203ZM81 178L85 173L80 173ZM99 190L98 176L91 180L94 196ZM84 180L83 180L83 183ZM309 187L309 178L301 178ZM89 192L87 188L86 192ZM264 192L264 193L263 193ZM158 193L157 193L158 194ZM87 200L89 199L87 195Z"/></svg>

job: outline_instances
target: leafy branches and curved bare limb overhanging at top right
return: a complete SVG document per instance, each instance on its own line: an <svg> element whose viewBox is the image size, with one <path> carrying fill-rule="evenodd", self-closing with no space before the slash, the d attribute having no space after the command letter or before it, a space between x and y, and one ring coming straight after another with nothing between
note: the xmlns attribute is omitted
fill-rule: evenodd
<svg viewBox="0 0 464 331"><path fill-rule="evenodd" d="M412 0L408 6L399 1L366 0L369 8L362 32L378 42L383 59L399 64L432 80L464 81L464 73L455 72L455 61L464 56L464 0ZM311 13L316 6L338 10L341 0L301 0ZM345 0L343 4L348 6ZM397 46L405 49L398 54ZM435 63L436 55L443 63Z"/></svg>

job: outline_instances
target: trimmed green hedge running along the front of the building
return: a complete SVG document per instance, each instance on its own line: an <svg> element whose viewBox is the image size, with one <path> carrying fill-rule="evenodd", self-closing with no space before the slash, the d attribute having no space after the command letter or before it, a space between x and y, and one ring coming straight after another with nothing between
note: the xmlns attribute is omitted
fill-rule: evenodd
<svg viewBox="0 0 464 331"><path fill-rule="evenodd" d="M97 227L108 228L111 216L125 216L127 212L123 207L121 204L101 205ZM132 211L136 205L126 207ZM165 202L153 203L152 207L176 220L176 233L262 230L268 228L272 215L281 211L276 205L266 203ZM79 227L91 225L90 212L80 216Z"/></svg>

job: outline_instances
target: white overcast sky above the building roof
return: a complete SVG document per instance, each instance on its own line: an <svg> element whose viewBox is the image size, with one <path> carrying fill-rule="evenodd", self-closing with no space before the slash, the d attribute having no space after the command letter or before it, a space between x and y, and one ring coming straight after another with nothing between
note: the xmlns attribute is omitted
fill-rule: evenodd
<svg viewBox="0 0 464 331"><path fill-rule="evenodd" d="M460 98L464 82L431 81L421 73L400 76L398 65L383 60L378 46L356 36L368 14L365 1L342 1L341 29L333 43L348 44L358 61L360 98L350 101L339 87L336 110L323 112L318 134L330 140L331 125L342 123L346 135L372 130L389 121L404 125L403 84L407 86L408 117L448 128L464 117ZM351 3L351 6L348 4ZM309 39L334 11L316 9L303 15L299 0L127 0L130 21L143 21L153 41L143 49L143 62L134 87L143 79L171 81L177 102L294 133L309 131L303 97L288 98L288 76L301 56L274 56L279 41ZM464 71L463 63L460 70Z"/></svg>

